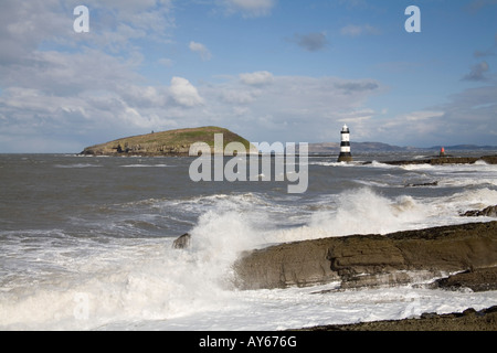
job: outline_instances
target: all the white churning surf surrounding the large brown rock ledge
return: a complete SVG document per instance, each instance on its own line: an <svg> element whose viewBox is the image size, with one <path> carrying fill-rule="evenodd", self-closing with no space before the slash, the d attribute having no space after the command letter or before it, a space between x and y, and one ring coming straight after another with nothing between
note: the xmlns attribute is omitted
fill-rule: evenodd
<svg viewBox="0 0 497 353"><path fill-rule="evenodd" d="M347 167L352 172L358 165ZM496 291L400 287L315 293L332 289L334 284L286 290L233 288L231 265L244 250L467 223L474 220L459 213L497 204L494 165L445 167L402 170L372 163L366 168L374 174L363 179L372 180L369 186L329 194L324 189L309 199L221 190L180 197L167 192L154 199L138 195L102 205L113 210L108 217L77 214L77 226L91 224L89 231L68 234L64 223L49 231L1 231L0 329L282 330L497 304ZM382 169L389 174L381 174ZM443 190L433 196L432 189L381 192L402 184L405 175L438 180L433 191ZM374 182L384 184L378 188ZM180 221L186 215L190 248L172 249L171 238L150 236L150 228L163 226L162 220ZM490 220L495 218L478 217L478 222Z"/></svg>

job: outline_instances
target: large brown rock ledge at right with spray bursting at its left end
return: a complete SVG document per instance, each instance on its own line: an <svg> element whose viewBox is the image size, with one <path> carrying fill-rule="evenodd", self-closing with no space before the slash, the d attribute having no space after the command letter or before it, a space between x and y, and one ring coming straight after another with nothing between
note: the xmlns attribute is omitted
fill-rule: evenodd
<svg viewBox="0 0 497 353"><path fill-rule="evenodd" d="M234 269L244 289L332 281L351 288L491 266L497 266L497 222L281 244L245 253Z"/></svg>

